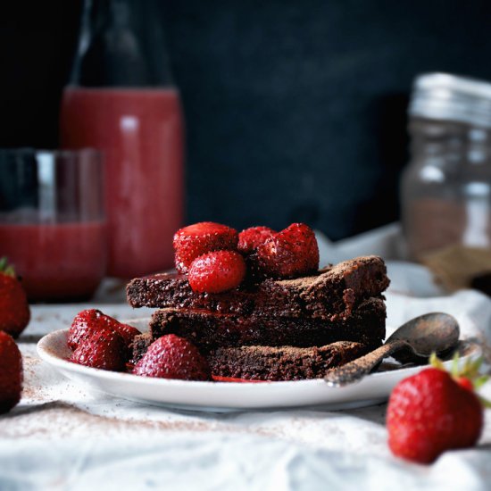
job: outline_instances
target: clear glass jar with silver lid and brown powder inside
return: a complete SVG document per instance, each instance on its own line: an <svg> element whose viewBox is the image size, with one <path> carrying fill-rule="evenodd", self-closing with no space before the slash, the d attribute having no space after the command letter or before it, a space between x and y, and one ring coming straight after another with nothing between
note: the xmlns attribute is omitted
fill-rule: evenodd
<svg viewBox="0 0 491 491"><path fill-rule="evenodd" d="M409 114L412 160L401 188L407 253L449 289L467 287L491 270L491 84L421 75Z"/></svg>

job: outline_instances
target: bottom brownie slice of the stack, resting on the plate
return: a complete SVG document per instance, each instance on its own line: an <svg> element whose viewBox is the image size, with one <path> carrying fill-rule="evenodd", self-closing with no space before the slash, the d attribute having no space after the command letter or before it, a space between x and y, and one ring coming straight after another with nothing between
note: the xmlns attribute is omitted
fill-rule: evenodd
<svg viewBox="0 0 491 491"><path fill-rule="evenodd" d="M334 367L370 351L366 345L338 341L326 346L241 346L219 348L208 355L212 374L254 380L320 379Z"/></svg>

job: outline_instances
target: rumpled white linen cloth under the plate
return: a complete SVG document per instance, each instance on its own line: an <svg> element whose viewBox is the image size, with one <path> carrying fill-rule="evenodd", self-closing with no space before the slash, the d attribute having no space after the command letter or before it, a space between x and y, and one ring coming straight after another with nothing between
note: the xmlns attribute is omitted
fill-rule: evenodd
<svg viewBox="0 0 491 491"><path fill-rule="evenodd" d="M321 262L360 254L397 257L390 226L329 244ZM475 291L442 296L424 268L388 261L387 324L431 311L454 314L463 337L491 345L491 300ZM491 411L475 449L447 452L420 466L387 447L386 404L329 412L197 412L137 404L64 379L36 354L35 342L64 329L94 304L35 305L19 342L24 356L21 404L0 416L0 490L30 489L491 489ZM129 319L125 304L97 304ZM390 332L391 329L389 329ZM488 349L488 348L485 348ZM490 352L487 352L490 353ZM483 389L491 398L491 384Z"/></svg>

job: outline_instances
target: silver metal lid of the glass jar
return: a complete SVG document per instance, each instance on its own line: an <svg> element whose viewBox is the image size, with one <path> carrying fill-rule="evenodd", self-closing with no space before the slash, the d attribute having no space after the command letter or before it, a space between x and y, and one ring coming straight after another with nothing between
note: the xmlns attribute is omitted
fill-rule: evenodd
<svg viewBox="0 0 491 491"><path fill-rule="evenodd" d="M414 80L409 114L491 128L491 83L424 73Z"/></svg>

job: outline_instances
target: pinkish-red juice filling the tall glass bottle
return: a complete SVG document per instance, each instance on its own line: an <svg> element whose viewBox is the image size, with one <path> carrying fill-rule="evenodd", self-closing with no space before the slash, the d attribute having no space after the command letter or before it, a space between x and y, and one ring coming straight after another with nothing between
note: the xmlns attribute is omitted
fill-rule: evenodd
<svg viewBox="0 0 491 491"><path fill-rule="evenodd" d="M183 133L173 88L65 88L62 146L104 153L109 275L172 267L172 236L183 221Z"/></svg>

